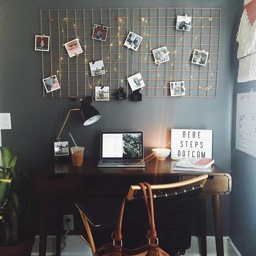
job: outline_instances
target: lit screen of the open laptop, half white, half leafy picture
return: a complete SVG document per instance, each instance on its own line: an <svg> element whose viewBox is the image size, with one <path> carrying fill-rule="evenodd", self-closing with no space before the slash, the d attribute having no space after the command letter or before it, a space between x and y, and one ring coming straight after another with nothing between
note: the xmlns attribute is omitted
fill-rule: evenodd
<svg viewBox="0 0 256 256"><path fill-rule="evenodd" d="M102 132L101 158L143 159L143 133Z"/></svg>

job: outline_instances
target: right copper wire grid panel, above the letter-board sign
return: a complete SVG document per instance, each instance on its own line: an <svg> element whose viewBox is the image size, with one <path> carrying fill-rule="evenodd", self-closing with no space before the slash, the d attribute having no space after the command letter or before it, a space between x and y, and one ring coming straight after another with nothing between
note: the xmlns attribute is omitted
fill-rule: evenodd
<svg viewBox="0 0 256 256"><path fill-rule="evenodd" d="M176 30L177 15L191 16L190 31ZM133 33L143 37L133 52L143 96L169 96L170 82L184 81L189 97L217 97L221 34L218 8L134 8ZM152 50L166 46L169 61L157 65ZM192 64L194 49L209 52L206 66Z"/></svg>

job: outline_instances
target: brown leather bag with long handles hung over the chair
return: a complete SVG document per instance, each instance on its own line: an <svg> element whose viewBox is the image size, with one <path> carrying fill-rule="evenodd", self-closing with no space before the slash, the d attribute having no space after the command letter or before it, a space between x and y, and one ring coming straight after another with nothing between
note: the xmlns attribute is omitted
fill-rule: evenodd
<svg viewBox="0 0 256 256"><path fill-rule="evenodd" d="M158 247L158 238L157 232L155 230L154 207L151 187L146 182L139 183L139 186L143 190L146 209L148 212L149 229L147 232L145 231L145 234L147 233L148 236L148 242L145 245L140 246L136 249L127 249L122 246L121 229L125 201L127 200L127 197L125 197L122 202L118 219L118 226L115 232L115 237L113 237L112 243L101 246L97 251L95 251L94 256L169 256L169 254L167 254L160 247ZM145 187L147 188L147 191ZM136 230L134 230L134 232L136 232Z"/></svg>

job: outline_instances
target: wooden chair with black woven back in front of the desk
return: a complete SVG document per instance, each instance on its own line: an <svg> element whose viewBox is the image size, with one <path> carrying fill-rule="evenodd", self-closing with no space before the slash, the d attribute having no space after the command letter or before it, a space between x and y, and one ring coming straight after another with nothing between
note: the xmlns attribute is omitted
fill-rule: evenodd
<svg viewBox="0 0 256 256"><path fill-rule="evenodd" d="M203 174L182 182L151 185L159 246L171 256L185 254L191 246L196 201L207 177L207 174ZM138 185L130 187L123 215L123 246L130 249L147 243L148 217L140 190ZM86 230L86 234L81 237L94 254L102 245L111 242L114 227L98 228L100 222L90 216L81 203L76 202L75 205L79 209ZM94 228L91 229L90 226Z"/></svg>

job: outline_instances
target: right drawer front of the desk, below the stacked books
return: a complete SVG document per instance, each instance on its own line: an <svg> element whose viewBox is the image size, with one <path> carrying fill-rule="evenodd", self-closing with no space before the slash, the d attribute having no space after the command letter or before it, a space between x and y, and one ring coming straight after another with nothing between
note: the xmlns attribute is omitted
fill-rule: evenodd
<svg viewBox="0 0 256 256"><path fill-rule="evenodd" d="M182 181L188 180L191 178L194 178L197 176L182 176ZM229 187L229 177L227 176L209 176L202 192L217 192L217 193L226 193L229 192L230 187Z"/></svg>

